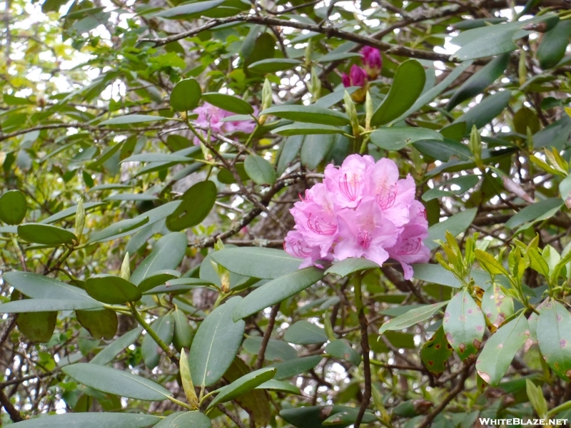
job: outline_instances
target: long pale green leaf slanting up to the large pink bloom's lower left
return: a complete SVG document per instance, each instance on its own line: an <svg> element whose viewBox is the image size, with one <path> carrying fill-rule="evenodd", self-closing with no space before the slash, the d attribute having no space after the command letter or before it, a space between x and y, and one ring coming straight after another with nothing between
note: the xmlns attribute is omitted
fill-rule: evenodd
<svg viewBox="0 0 571 428"><path fill-rule="evenodd" d="M323 270L306 267L276 278L253 290L236 306L234 320L241 320L268 306L275 305L315 284L323 277Z"/></svg>

